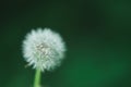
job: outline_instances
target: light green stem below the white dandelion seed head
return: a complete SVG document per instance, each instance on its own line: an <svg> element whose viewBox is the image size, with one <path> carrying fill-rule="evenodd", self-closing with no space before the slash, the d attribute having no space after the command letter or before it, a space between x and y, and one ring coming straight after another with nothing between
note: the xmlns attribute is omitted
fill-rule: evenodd
<svg viewBox="0 0 131 87"><path fill-rule="evenodd" d="M35 73L34 87L40 87L40 70L37 69Z"/></svg>

